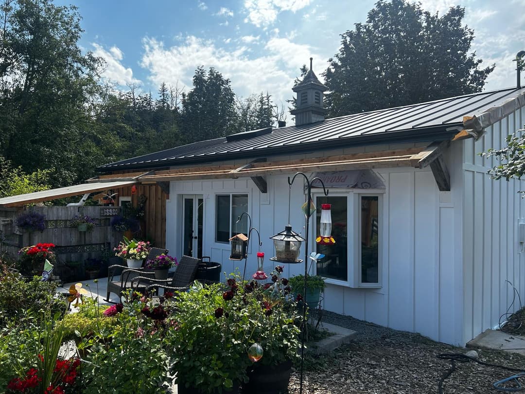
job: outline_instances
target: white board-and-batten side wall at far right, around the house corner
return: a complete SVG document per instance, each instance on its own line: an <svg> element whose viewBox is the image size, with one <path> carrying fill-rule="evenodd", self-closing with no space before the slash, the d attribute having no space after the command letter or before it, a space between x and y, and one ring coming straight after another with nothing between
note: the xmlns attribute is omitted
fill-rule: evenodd
<svg viewBox="0 0 525 394"><path fill-rule="evenodd" d="M498 162L480 152L506 146L508 134L525 122L521 108L490 126L478 141L464 141L464 341L498 325L513 299L510 281L525 296L525 252L518 241L518 220L525 218L519 190L525 181L491 180L487 171ZM511 312L519 308L514 303Z"/></svg>

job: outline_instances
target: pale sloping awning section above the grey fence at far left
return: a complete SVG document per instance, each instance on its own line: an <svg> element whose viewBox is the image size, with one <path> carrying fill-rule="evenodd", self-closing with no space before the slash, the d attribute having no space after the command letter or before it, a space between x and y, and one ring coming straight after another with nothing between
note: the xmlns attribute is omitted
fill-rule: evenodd
<svg viewBox="0 0 525 394"><path fill-rule="evenodd" d="M65 188L44 190L41 192L27 193L4 197L0 199L0 206L22 206L25 204L61 199L72 195L80 195L85 193L97 192L99 190L109 190L121 188L122 186L129 186L137 181L109 181L109 182L93 182L82 183L79 185L66 186Z"/></svg>

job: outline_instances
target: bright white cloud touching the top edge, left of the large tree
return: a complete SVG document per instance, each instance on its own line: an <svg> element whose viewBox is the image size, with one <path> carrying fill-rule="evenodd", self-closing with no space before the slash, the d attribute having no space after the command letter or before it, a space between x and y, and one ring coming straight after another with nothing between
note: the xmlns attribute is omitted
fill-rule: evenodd
<svg viewBox="0 0 525 394"><path fill-rule="evenodd" d="M257 27L271 25L282 11L293 13L310 4L310 0L245 0L244 7L248 13L245 22Z"/></svg>

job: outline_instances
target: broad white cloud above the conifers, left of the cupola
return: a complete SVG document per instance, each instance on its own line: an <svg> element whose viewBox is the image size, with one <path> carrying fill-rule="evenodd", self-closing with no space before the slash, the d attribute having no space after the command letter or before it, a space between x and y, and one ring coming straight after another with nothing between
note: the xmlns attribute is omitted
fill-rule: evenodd
<svg viewBox="0 0 525 394"><path fill-rule="evenodd" d="M226 49L213 40L195 36L188 36L181 45L169 48L154 38L144 38L143 45L141 65L149 69L149 78L155 86L161 82L174 85L180 81L190 87L195 68L214 67L232 81L236 94L246 97L268 91L275 102L292 96L293 79L310 56L316 60L314 70L318 70L317 74L325 68L321 56L316 55L313 48L292 43L287 38L270 38L264 55L255 57L246 46Z"/></svg>

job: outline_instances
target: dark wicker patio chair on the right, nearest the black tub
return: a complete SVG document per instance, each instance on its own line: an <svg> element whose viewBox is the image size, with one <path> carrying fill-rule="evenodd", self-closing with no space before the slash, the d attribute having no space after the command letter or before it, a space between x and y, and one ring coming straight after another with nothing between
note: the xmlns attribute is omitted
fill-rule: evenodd
<svg viewBox="0 0 525 394"><path fill-rule="evenodd" d="M202 263L200 258L182 256L171 278L152 279L150 277L137 276L132 279L132 288L145 287L146 292L156 292L159 288L173 292L185 291L195 281L199 263Z"/></svg>

